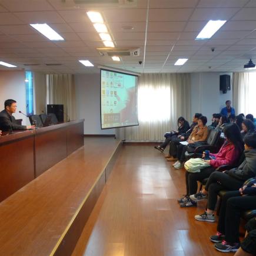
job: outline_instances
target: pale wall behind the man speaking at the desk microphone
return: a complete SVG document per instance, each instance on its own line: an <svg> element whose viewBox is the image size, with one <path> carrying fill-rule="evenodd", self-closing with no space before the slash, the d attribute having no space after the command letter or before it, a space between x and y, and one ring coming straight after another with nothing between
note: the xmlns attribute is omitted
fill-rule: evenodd
<svg viewBox="0 0 256 256"><path fill-rule="evenodd" d="M4 109L6 99L17 101L16 119L23 119L22 125L29 125L29 119L19 114L22 111L26 114L26 88L24 71L0 71L0 109Z"/></svg>

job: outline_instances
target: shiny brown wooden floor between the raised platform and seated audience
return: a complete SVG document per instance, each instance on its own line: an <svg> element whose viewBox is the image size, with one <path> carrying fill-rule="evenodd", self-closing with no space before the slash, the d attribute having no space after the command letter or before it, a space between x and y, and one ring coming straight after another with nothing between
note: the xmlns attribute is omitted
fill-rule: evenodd
<svg viewBox="0 0 256 256"><path fill-rule="evenodd" d="M205 201L179 207L185 171L170 165L152 146L124 146L72 255L234 255L213 248L216 223L194 220Z"/></svg>

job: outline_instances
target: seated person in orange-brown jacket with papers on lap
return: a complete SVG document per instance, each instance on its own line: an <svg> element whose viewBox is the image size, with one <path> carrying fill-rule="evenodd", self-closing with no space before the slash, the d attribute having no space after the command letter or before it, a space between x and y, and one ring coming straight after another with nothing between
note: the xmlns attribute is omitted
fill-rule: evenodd
<svg viewBox="0 0 256 256"><path fill-rule="evenodd" d="M195 142L206 141L207 135L208 135L208 128L206 124L207 124L207 117L204 117L202 115L202 117L198 118L197 125L195 125L193 131L188 137L188 145L194 144ZM185 160L185 152L187 151L187 147L188 146L185 146L182 144L178 145L178 148L177 148L178 161L172 165L175 169L182 168L182 163Z"/></svg>

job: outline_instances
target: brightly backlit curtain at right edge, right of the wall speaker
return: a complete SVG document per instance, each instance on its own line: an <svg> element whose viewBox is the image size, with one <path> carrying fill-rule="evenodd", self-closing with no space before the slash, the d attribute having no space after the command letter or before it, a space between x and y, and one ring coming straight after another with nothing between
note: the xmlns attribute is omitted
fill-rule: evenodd
<svg viewBox="0 0 256 256"><path fill-rule="evenodd" d="M256 72L234 72L232 75L233 106L237 114L256 115Z"/></svg>

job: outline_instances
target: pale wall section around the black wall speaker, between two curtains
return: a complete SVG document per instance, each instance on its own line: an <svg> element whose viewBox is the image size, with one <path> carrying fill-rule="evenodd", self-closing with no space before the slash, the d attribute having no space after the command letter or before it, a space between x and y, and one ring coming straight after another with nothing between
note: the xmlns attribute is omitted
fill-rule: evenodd
<svg viewBox="0 0 256 256"><path fill-rule="evenodd" d="M232 89L223 94L220 91L220 75L231 73L201 72L191 74L191 115L202 113L211 124L213 113L220 113L225 101L232 101Z"/></svg>

